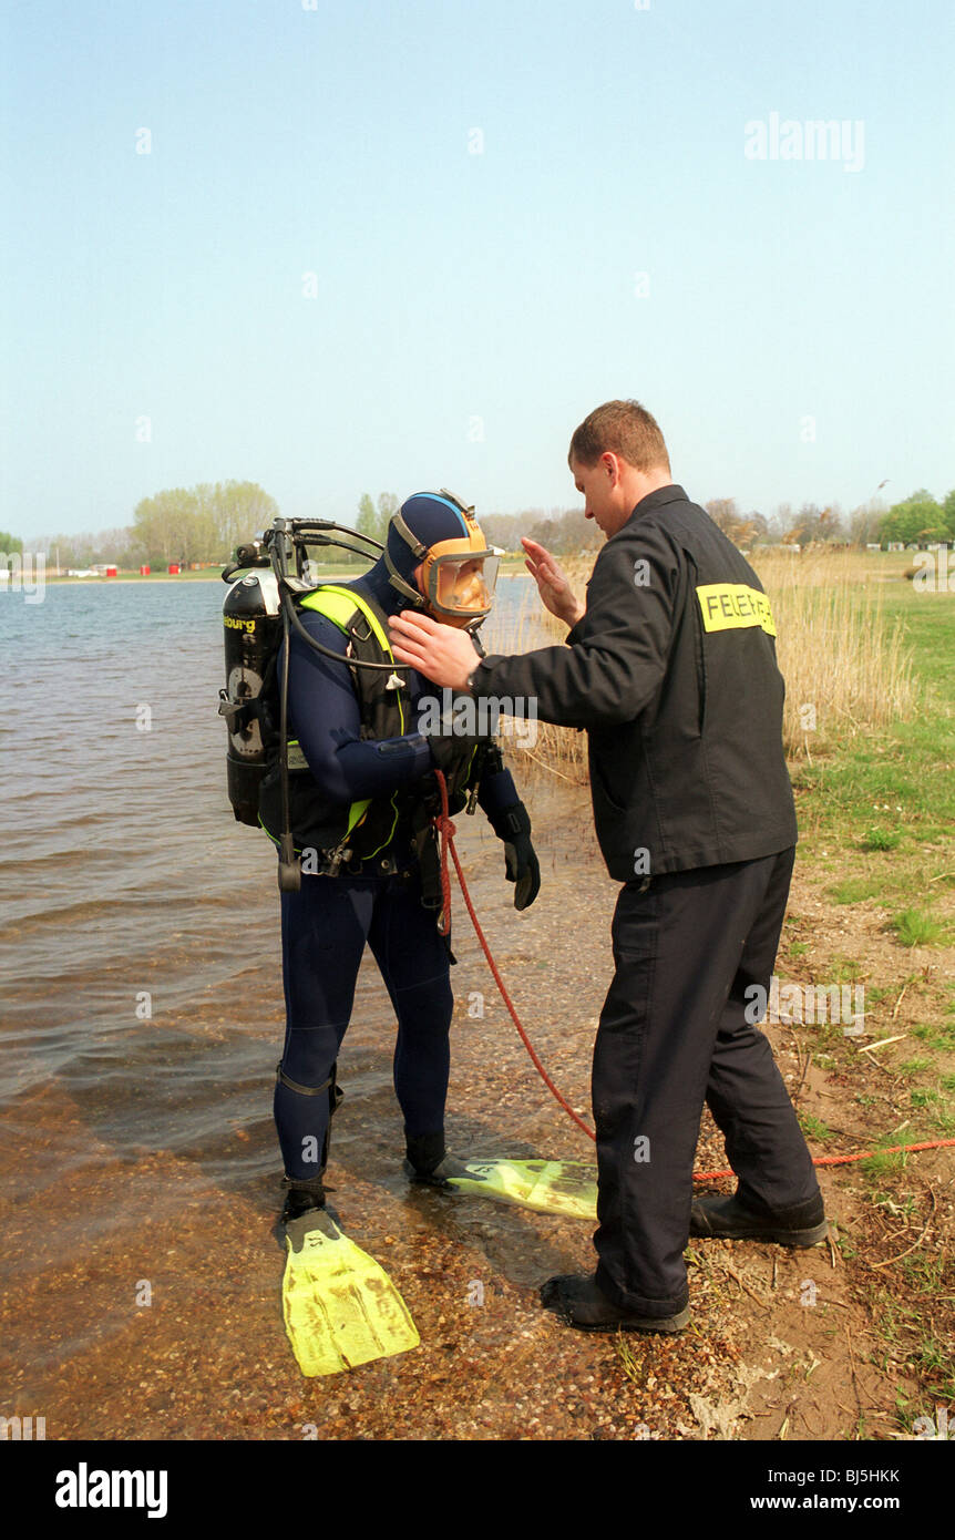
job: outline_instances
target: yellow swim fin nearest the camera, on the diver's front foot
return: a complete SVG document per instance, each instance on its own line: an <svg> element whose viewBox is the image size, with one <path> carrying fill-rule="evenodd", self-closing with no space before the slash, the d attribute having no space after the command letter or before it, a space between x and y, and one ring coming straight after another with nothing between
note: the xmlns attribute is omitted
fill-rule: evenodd
<svg viewBox="0 0 955 1540"><path fill-rule="evenodd" d="M339 1374L417 1348L408 1306L384 1267L325 1209L285 1226L285 1331L302 1374Z"/></svg>

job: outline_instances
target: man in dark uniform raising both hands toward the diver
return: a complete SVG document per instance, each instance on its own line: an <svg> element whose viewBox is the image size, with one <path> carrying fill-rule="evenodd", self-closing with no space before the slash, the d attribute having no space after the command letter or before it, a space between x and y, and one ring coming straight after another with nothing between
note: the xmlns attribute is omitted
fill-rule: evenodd
<svg viewBox="0 0 955 1540"><path fill-rule="evenodd" d="M593 1058L599 1200L593 1277L551 1278L544 1303L587 1331L679 1331L687 1237L810 1246L823 1200L792 1101L755 1027L792 876L796 821L782 753L784 685L752 567L673 484L636 402L576 430L570 468L607 544L571 594L525 542L565 647L476 659L433 621L391 621L396 658L479 699L534 699L585 727L596 833L622 882L616 972ZM704 1101L738 1177L693 1203Z"/></svg>

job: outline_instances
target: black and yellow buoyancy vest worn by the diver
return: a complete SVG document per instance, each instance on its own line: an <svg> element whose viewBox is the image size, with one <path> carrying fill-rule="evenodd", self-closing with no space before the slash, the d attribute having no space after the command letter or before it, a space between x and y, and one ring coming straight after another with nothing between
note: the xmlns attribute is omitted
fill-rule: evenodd
<svg viewBox="0 0 955 1540"><path fill-rule="evenodd" d="M347 638L345 653L360 662L391 662L394 671L384 668L351 668L351 679L359 701L362 738L399 738L414 732L411 695L407 668L402 671L388 642L385 614L379 607L354 588L323 584L297 601L299 608L313 610L330 619ZM259 822L270 839L279 844L282 833L282 784L279 772L279 745L273 750L273 764L262 782L259 796ZM473 742L462 744L451 770L445 770L451 808L464 805L462 792L479 775L481 755ZM314 779L297 739L288 742L288 799L290 818L297 855L305 861L303 870L356 872L393 870L393 845L399 835L404 844L431 865L430 847L434 844L431 818L436 808L431 778L414 781L396 788L390 796L365 798L348 805L330 802ZM430 886L430 884L428 884Z"/></svg>

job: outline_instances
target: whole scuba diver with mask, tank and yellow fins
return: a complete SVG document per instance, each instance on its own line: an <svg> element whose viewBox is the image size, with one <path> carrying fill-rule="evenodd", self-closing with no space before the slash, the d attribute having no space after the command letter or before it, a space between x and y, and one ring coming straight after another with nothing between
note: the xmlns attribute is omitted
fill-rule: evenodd
<svg viewBox="0 0 955 1540"><path fill-rule="evenodd" d="M368 556L356 541L374 548L367 573L342 584L310 578L310 545ZM302 1374L337 1374L419 1341L385 1270L325 1206L330 1124L342 1096L336 1064L365 944L397 1016L394 1090L410 1180L544 1212L590 1214L596 1187L564 1192L559 1164L462 1163L445 1149L453 956L436 772L448 812L481 805L504 842L514 909L527 909L541 886L530 818L496 744L465 736L471 724L456 716L451 691L428 693L388 641L390 618L413 608L467 630L479 648L498 553L473 510L444 490L416 493L391 517L384 547L327 519L279 517L239 547L222 576L230 801L239 822L263 827L279 847L286 1026L274 1116L285 1163L285 1327Z"/></svg>

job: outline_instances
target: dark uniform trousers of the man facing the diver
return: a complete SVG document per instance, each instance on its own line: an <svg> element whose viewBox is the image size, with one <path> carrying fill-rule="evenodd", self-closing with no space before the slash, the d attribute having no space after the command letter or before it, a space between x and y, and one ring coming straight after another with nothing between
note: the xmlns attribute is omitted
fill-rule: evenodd
<svg viewBox="0 0 955 1540"><path fill-rule="evenodd" d="M709 1106L750 1207L818 1200L766 1012L795 850L627 882L616 972L593 1055L596 1280L618 1306L672 1315L689 1298L693 1157Z"/></svg>

